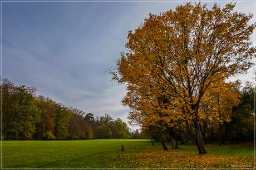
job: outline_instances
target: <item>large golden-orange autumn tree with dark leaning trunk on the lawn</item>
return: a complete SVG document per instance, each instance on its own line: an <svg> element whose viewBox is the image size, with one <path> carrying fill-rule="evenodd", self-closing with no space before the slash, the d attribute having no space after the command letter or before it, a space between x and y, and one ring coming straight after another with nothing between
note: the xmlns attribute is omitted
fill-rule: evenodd
<svg viewBox="0 0 256 170"><path fill-rule="evenodd" d="M175 11L150 14L134 32L129 31L127 52L111 71L114 79L127 84L128 96L137 92L143 98L132 102L168 99L168 107L158 107L154 115L163 114L160 108L168 108L170 118L179 115L194 134L200 154L206 153L199 127L205 91L252 66L255 48L249 36L255 24L248 24L252 14L234 8L232 3L223 8L214 4L212 9L187 3ZM138 108L132 113L142 112Z"/></svg>

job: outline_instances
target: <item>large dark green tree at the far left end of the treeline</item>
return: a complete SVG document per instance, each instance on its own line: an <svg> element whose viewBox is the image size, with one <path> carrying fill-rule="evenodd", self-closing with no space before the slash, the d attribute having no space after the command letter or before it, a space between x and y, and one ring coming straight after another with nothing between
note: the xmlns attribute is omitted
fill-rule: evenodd
<svg viewBox="0 0 256 170"><path fill-rule="evenodd" d="M6 139L31 139L40 120L33 87L14 86L3 79L2 134Z"/></svg>

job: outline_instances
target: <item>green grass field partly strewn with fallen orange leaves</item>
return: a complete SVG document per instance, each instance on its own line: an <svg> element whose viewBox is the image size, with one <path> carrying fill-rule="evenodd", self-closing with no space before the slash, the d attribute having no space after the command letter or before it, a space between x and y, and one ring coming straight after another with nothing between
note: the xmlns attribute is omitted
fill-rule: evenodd
<svg viewBox="0 0 256 170"><path fill-rule="evenodd" d="M253 143L206 145L205 155L179 147L163 151L145 139L2 141L2 168L254 168Z"/></svg>

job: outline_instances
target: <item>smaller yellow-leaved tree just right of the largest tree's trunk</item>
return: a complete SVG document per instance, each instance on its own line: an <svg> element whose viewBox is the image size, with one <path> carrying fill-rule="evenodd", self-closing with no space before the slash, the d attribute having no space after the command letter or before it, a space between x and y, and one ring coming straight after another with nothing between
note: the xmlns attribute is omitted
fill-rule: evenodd
<svg viewBox="0 0 256 170"><path fill-rule="evenodd" d="M211 84L211 87L205 91L199 108L199 126L204 140L207 126L216 127L218 125L221 144L223 139L221 124L231 121L232 108L238 106L240 102L238 86L240 86L239 82L219 82Z"/></svg>

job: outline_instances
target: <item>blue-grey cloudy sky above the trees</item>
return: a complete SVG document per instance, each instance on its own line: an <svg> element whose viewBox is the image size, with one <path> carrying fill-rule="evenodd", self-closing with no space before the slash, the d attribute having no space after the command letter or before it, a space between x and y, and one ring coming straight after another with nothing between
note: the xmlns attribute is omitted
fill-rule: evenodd
<svg viewBox="0 0 256 170"><path fill-rule="evenodd" d="M129 29L150 12L159 14L185 2L1 3L4 78L34 86L37 94L66 106L127 122L129 108L120 103L125 87L111 82L107 68L125 52ZM214 2L207 3L211 7ZM236 9L254 13L254 8L253 1L240 1ZM237 78L252 81L252 71Z"/></svg>

